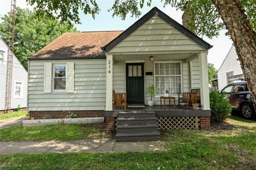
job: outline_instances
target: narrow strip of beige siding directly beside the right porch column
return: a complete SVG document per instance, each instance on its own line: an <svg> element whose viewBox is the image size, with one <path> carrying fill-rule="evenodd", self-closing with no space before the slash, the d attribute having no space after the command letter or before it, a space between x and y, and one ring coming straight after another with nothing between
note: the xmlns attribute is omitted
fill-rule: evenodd
<svg viewBox="0 0 256 170"><path fill-rule="evenodd" d="M191 70L191 88L198 89L200 88L200 66L198 57L190 61L190 70Z"/></svg>

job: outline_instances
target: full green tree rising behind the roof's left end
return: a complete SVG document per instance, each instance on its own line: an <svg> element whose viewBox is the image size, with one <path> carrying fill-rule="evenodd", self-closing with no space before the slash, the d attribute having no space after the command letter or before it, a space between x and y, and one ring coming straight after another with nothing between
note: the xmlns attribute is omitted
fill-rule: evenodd
<svg viewBox="0 0 256 170"><path fill-rule="evenodd" d="M1 18L0 36L8 43L10 13ZM35 12L17 8L15 19L14 54L27 69L28 58L65 32L76 31L76 27L49 17L36 17Z"/></svg>

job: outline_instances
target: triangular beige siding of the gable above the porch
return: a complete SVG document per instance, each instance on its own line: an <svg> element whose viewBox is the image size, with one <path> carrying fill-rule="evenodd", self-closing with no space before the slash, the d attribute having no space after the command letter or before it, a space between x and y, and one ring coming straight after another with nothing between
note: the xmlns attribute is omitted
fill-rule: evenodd
<svg viewBox="0 0 256 170"><path fill-rule="evenodd" d="M204 50L156 15L109 52L164 52Z"/></svg>

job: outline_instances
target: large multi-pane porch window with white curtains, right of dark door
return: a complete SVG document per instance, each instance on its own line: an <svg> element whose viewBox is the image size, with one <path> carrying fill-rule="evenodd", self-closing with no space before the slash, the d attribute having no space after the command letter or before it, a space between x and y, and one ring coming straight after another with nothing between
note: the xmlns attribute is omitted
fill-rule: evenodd
<svg viewBox="0 0 256 170"><path fill-rule="evenodd" d="M163 95L166 90L177 94L181 89L181 62L155 63L156 95Z"/></svg>

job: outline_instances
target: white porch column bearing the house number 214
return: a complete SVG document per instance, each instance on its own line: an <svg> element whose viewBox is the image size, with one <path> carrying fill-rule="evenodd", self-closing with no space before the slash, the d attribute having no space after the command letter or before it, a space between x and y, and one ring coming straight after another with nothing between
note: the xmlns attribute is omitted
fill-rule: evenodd
<svg viewBox="0 0 256 170"><path fill-rule="evenodd" d="M106 55L106 111L113 110L113 55Z"/></svg>

